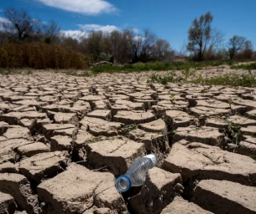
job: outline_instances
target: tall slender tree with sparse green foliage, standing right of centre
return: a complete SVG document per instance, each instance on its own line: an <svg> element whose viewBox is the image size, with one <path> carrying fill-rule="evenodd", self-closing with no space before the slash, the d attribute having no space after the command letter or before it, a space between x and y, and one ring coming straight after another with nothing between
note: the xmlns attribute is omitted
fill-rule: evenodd
<svg viewBox="0 0 256 214"><path fill-rule="evenodd" d="M194 53L197 60L203 60L207 44L211 38L213 16L210 12L201 15L199 19L195 18L189 29L188 51Z"/></svg>

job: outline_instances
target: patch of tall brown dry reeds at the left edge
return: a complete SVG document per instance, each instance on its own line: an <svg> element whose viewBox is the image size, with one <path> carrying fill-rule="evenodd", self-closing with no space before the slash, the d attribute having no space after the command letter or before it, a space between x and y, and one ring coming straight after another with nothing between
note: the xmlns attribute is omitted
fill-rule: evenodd
<svg viewBox="0 0 256 214"><path fill-rule="evenodd" d="M47 43L9 43L0 48L1 68L84 69L86 57L71 48Z"/></svg>

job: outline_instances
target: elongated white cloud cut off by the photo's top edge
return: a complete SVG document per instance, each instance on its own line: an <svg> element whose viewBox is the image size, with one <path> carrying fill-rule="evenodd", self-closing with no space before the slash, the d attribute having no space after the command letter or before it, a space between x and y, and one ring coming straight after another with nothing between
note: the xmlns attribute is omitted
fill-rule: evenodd
<svg viewBox="0 0 256 214"><path fill-rule="evenodd" d="M63 10L83 13L87 15L97 15L99 13L114 13L118 9L111 3L104 0L37 0L47 6L60 8Z"/></svg>

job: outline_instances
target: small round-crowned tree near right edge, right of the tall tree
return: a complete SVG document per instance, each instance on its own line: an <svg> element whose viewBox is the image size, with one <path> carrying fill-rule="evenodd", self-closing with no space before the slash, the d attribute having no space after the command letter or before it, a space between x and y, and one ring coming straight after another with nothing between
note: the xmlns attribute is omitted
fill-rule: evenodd
<svg viewBox="0 0 256 214"><path fill-rule="evenodd" d="M230 59L233 59L235 55L238 53L238 51L243 49L245 42L246 42L245 37L240 37L237 35L229 39L227 45L228 45L228 53L229 53Z"/></svg>

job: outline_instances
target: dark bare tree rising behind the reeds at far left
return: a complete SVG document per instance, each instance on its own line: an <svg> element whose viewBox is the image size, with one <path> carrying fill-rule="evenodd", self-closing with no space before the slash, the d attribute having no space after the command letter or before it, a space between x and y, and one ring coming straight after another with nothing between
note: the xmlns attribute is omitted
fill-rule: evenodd
<svg viewBox="0 0 256 214"><path fill-rule="evenodd" d="M11 38L22 40L39 33L39 20L31 18L25 10L9 8L4 16L8 22L3 23L3 29Z"/></svg>

